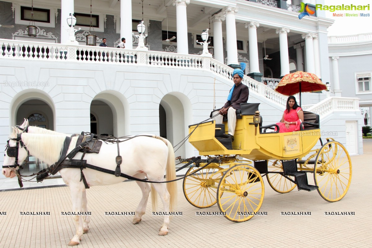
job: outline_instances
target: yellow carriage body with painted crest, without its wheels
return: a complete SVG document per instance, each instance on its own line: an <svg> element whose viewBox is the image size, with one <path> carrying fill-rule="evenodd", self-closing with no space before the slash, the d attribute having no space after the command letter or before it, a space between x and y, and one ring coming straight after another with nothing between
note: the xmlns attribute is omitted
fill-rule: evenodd
<svg viewBox="0 0 372 248"><path fill-rule="evenodd" d="M253 115L241 117L237 119L232 149L227 149L215 138L214 121L202 123L196 129L196 125L190 126L189 132L195 131L189 142L198 149L200 155L237 154L250 160L291 160L308 154L320 138L320 129L293 133L260 133L259 126L256 128L250 124L253 123Z"/></svg>

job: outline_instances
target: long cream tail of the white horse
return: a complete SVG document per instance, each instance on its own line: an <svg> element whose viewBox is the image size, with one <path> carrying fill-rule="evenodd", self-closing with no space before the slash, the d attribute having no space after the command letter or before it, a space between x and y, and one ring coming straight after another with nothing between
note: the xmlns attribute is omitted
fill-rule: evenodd
<svg viewBox="0 0 372 248"><path fill-rule="evenodd" d="M176 179L176 162L174 161L174 149L172 144L166 140L168 146L168 159L166 167L166 180L171 181ZM167 190L170 194L170 211L176 209L177 205L177 181L167 183Z"/></svg>

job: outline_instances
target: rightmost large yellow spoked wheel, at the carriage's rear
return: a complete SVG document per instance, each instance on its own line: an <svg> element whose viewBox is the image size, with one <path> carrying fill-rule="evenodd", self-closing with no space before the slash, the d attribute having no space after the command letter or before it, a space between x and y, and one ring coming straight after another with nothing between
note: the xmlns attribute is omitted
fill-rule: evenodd
<svg viewBox="0 0 372 248"><path fill-rule="evenodd" d="M314 181L324 200L337 202L349 189L352 166L346 148L337 141L325 143L314 165Z"/></svg>

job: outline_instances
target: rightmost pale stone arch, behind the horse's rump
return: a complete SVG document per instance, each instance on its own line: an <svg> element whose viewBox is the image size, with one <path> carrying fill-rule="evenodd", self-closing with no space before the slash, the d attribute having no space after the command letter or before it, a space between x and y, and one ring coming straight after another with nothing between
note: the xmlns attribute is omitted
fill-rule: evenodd
<svg viewBox="0 0 372 248"><path fill-rule="evenodd" d="M189 134L188 126L193 124L191 102L183 93L170 92L161 99L160 105L165 110L167 139L174 146ZM186 141L175 154L176 157L189 158L193 156L194 148Z"/></svg>

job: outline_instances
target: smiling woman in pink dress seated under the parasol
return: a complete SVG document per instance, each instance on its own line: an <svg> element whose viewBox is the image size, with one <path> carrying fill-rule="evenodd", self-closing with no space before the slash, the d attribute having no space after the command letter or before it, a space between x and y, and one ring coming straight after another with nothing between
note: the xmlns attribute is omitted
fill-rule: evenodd
<svg viewBox="0 0 372 248"><path fill-rule="evenodd" d="M284 110L282 120L276 123L276 125L279 126L279 133L299 131L302 120L304 120L304 112L301 107L298 106L296 98L294 96L289 96L287 108Z"/></svg>

